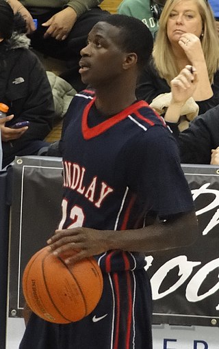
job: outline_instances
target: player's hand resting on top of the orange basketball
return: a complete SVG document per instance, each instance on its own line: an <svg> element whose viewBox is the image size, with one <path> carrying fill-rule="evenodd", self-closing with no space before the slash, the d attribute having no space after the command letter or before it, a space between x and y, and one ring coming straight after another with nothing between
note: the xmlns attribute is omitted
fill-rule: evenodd
<svg viewBox="0 0 219 349"><path fill-rule="evenodd" d="M99 255L107 250L103 231L89 228L56 230L47 243L54 255L65 263L73 263L86 257Z"/></svg>

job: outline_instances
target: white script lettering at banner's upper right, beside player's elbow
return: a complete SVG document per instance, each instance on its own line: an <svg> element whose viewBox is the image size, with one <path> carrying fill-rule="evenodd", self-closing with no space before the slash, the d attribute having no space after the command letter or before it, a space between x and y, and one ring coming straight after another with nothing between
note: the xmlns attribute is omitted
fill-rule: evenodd
<svg viewBox="0 0 219 349"><path fill-rule="evenodd" d="M191 190L194 201L201 194L213 194L215 196L214 200L211 203L209 203L209 205L203 207L203 209L199 209L198 211L196 211L197 216L205 214L207 211L211 211L211 209L215 209L219 206L219 190L208 189L210 184L211 183L205 183L201 186L201 188ZM203 230L203 235L207 235L207 233L209 233L211 229L216 227L217 224L219 224L219 210L216 211L214 216L211 218L210 222L207 224L207 227L205 227L205 229Z"/></svg>

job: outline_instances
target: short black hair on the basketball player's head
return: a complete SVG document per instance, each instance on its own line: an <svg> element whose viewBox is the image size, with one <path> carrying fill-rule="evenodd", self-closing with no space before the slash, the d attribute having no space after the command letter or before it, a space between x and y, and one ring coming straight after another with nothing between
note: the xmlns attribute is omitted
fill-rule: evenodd
<svg viewBox="0 0 219 349"><path fill-rule="evenodd" d="M153 36L142 21L125 14L110 14L103 22L120 28L120 47L127 52L134 52L138 56L140 70L146 66L153 50Z"/></svg>

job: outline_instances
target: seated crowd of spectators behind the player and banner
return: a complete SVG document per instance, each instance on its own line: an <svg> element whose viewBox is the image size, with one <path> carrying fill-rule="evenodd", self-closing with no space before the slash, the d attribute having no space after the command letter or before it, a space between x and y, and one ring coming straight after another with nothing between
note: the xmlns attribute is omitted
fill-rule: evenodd
<svg viewBox="0 0 219 349"><path fill-rule="evenodd" d="M45 141L60 103L54 104L50 75L30 47L63 60L66 70L58 77L62 83L58 90L68 94L69 105L75 93L86 88L80 81L79 57L88 33L110 15L99 8L101 2L77 1L73 7L73 1L64 1L60 8L53 1L52 8L47 1L33 7L28 1L23 5L0 0L0 103L9 106L8 116L0 119L2 168L15 155L62 156L58 141ZM123 0L118 8L118 13L143 21L154 38L151 61L139 78L136 96L164 117L179 144L182 163L218 165L219 6L213 0L152 3ZM21 121L29 121L29 126L13 128Z"/></svg>

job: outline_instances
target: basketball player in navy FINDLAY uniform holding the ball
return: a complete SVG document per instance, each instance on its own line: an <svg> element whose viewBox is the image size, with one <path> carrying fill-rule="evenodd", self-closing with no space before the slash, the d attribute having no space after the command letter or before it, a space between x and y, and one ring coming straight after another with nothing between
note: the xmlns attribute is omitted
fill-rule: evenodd
<svg viewBox="0 0 219 349"><path fill-rule="evenodd" d="M62 220L48 244L68 254L66 263L94 255L103 296L79 322L32 314L20 349L152 348L145 256L197 236L177 144L153 109L136 101L152 47L146 25L115 14L94 25L81 50L79 73L93 90L76 94L66 114Z"/></svg>

